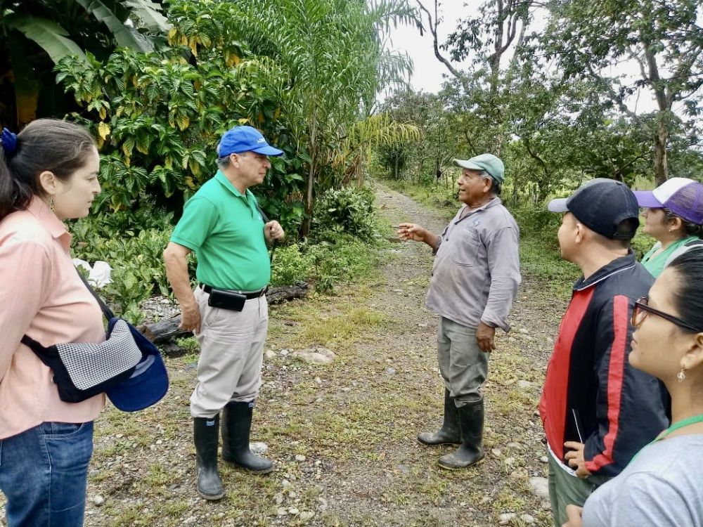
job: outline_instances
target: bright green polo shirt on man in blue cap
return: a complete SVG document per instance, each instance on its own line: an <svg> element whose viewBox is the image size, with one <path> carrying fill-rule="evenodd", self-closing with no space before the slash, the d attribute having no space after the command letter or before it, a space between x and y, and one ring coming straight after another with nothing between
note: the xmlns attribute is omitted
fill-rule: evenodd
<svg viewBox="0 0 703 527"><path fill-rule="evenodd" d="M171 241L198 256L200 283L238 291L269 283L271 261L256 202L250 190L243 195L221 171L186 202Z"/></svg>

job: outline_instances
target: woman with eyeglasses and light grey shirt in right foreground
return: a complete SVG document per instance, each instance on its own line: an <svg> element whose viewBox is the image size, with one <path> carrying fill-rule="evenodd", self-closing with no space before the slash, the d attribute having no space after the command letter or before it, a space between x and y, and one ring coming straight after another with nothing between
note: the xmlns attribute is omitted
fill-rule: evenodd
<svg viewBox="0 0 703 527"><path fill-rule="evenodd" d="M666 385L671 427L583 509L569 505L565 526L703 526L702 247L664 268L649 297L635 302L631 322L629 361Z"/></svg>

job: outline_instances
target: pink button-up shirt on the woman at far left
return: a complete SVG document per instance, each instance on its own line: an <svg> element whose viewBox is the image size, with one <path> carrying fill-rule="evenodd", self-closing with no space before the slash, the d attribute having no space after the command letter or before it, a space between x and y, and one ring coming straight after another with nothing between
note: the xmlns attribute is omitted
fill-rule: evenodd
<svg viewBox="0 0 703 527"><path fill-rule="evenodd" d="M0 439L45 421L95 419L103 394L64 403L53 372L20 344L23 334L43 346L105 340L98 303L76 273L71 235L43 200L0 221Z"/></svg>

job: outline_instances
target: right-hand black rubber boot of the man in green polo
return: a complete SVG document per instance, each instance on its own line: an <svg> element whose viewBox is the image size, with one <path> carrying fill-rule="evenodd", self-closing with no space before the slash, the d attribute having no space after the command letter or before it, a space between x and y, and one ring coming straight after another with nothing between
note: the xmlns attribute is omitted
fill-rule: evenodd
<svg viewBox="0 0 703 527"><path fill-rule="evenodd" d="M222 460L254 474L266 474L273 470L273 461L259 457L249 450L253 409L253 401L227 403L224 407L221 426Z"/></svg>

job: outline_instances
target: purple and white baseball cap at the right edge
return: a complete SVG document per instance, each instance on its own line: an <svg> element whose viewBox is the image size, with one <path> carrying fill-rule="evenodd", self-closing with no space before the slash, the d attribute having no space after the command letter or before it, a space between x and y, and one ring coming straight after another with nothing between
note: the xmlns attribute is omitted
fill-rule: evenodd
<svg viewBox="0 0 703 527"><path fill-rule="evenodd" d="M640 207L669 209L676 216L703 224L703 184L689 178L667 179L654 190L636 190Z"/></svg>

